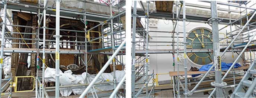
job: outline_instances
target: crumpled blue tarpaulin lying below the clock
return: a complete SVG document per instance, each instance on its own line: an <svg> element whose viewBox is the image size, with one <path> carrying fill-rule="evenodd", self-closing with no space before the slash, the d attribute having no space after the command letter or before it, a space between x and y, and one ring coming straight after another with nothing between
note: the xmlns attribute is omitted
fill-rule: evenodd
<svg viewBox="0 0 256 98"><path fill-rule="evenodd" d="M230 68L230 66L232 65L233 63L225 63L225 62L221 62L221 70L228 70ZM211 68L212 64L207 64L207 65L204 65L202 66L199 71L208 71L210 68ZM241 65L239 63L236 63L234 65L234 68L238 68L238 67L241 67ZM211 71L214 71L214 67ZM200 74L193 74L192 77L196 77L196 76L199 76Z"/></svg>

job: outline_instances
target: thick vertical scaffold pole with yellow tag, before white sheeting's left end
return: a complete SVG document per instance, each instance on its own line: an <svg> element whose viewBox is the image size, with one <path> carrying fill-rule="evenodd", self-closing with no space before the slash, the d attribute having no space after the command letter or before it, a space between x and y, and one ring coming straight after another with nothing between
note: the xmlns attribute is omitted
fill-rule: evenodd
<svg viewBox="0 0 256 98"><path fill-rule="evenodd" d="M60 0L56 0L55 98L60 97Z"/></svg>

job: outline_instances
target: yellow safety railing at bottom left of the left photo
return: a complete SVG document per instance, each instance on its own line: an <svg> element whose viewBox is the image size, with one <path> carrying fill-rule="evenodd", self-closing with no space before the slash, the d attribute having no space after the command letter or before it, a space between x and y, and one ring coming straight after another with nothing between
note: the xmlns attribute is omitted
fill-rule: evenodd
<svg viewBox="0 0 256 98"><path fill-rule="evenodd" d="M17 83L18 83L18 78L33 78L33 89L32 90L24 90L24 91L17 91ZM15 81L13 83L14 87L14 92L28 92L28 91L33 91L35 89L35 77L33 76L16 76Z"/></svg>

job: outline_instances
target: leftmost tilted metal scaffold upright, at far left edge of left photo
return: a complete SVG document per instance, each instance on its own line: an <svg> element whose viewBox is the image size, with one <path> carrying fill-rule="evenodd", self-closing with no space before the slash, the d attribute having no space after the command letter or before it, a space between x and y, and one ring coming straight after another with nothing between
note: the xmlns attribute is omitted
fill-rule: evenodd
<svg viewBox="0 0 256 98"><path fill-rule="evenodd" d="M2 32L1 32L1 55L0 55L0 84L2 83L2 73L3 73L3 54L4 54L4 32L5 32L5 26L6 26L6 7L7 7L7 1L3 0L4 3L4 14L3 14L3 25L2 25ZM0 89L0 92L2 92L2 89ZM0 95L1 98L1 95Z"/></svg>

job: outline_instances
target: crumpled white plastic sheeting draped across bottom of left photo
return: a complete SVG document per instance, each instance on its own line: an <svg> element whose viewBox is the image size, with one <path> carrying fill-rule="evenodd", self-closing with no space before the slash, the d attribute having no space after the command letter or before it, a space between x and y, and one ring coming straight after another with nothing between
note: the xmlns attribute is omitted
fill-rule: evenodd
<svg viewBox="0 0 256 98"><path fill-rule="evenodd" d="M86 75L87 78L86 78ZM89 84L90 81L93 80L93 78L96 75L90 75L86 74L86 72L82 73L81 75L75 75L72 74L71 70L67 70L64 73L60 71L60 85L75 85L75 84ZM125 71L119 71L116 70L116 81L121 81L122 77L125 76ZM55 82L55 69L47 67L45 70L45 82ZM106 83L107 80L112 81L113 80L113 72L112 73L103 73L101 77L97 80L96 83ZM103 84L100 84L103 85ZM60 93L62 96L67 97L72 92L76 94L82 94L82 92L85 90L84 88L74 88L74 89L67 89L67 90L60 90ZM109 91L113 90L114 86L113 83L109 83L108 85L98 86L95 87L96 92L100 91ZM91 92L91 91L89 91Z"/></svg>

